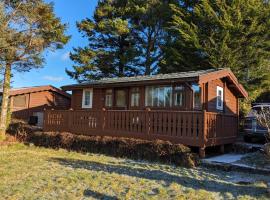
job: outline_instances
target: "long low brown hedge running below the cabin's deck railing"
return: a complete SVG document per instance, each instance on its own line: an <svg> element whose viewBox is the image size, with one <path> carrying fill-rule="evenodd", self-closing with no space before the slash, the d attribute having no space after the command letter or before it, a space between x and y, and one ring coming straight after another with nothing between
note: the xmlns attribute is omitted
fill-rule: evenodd
<svg viewBox="0 0 270 200"><path fill-rule="evenodd" d="M161 140L146 141L107 136L83 136L67 132L33 131L21 122L12 124L9 133L15 134L22 142L54 149L63 148L136 160L159 161L184 167L194 167L198 164L197 154L192 153L188 147Z"/></svg>

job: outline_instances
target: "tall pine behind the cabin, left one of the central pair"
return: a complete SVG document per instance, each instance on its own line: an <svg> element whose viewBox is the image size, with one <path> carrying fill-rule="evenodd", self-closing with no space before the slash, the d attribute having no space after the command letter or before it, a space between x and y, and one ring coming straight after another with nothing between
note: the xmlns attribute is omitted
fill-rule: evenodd
<svg viewBox="0 0 270 200"><path fill-rule="evenodd" d="M137 51L130 35L125 5L126 1L101 0L93 20L87 18L77 23L88 45L74 48L71 53L75 65L73 71L66 70L70 77L82 82L139 73L133 64Z"/></svg>

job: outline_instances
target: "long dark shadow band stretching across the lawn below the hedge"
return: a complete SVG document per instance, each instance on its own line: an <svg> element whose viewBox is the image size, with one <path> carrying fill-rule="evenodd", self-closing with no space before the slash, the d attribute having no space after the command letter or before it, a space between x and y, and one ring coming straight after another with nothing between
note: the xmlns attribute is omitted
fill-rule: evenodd
<svg viewBox="0 0 270 200"><path fill-rule="evenodd" d="M170 174L169 172L159 169L150 170L134 167L134 165L127 163L128 165L117 164L104 164L94 161L76 160L76 159L64 159L64 158L51 158L51 161L57 162L63 166L72 167L73 169L86 169L96 172L116 173L119 175L127 175L131 177L144 178L148 180L164 181L167 186L171 183L178 183L184 187L192 188L194 190L202 189L209 192L231 193L234 197L240 195L249 195L252 197L262 197L266 194L266 189L262 187L256 187L255 185L238 185L222 181L224 180L224 173L217 173L214 170L211 171L211 177L216 180L207 179L206 172L200 172L199 176L203 175L204 178L196 179L195 173L191 170L182 168L184 173ZM180 168L181 169L181 168ZM196 176L195 176L196 175ZM248 174L247 174L248 175Z"/></svg>

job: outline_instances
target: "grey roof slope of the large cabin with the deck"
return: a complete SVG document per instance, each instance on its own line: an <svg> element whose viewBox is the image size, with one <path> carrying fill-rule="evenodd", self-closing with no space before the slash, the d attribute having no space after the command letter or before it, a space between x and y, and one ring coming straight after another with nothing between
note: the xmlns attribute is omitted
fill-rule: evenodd
<svg viewBox="0 0 270 200"><path fill-rule="evenodd" d="M88 86L88 85L102 85L102 84L113 84L113 83L130 83L130 82L140 82L140 81L154 81L154 80L169 80L169 79L182 79L182 78L196 78L203 74L208 74L210 72L219 71L222 69L207 69L198 71L188 71L188 72L177 72L169 74L157 74L157 75L145 75L145 76L134 76L134 77L117 77L117 78L103 78L100 80L87 81L80 84L67 85L65 87L76 87L76 86Z"/></svg>

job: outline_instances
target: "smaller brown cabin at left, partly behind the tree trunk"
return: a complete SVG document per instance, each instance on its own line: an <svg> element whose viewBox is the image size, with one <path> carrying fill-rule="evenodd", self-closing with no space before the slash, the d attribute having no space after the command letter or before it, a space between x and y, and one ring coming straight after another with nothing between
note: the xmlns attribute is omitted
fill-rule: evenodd
<svg viewBox="0 0 270 200"><path fill-rule="evenodd" d="M40 126L43 124L44 109L65 110L70 108L70 103L70 94L51 85L13 88L10 91L12 117L29 121L30 116L37 116Z"/></svg>

